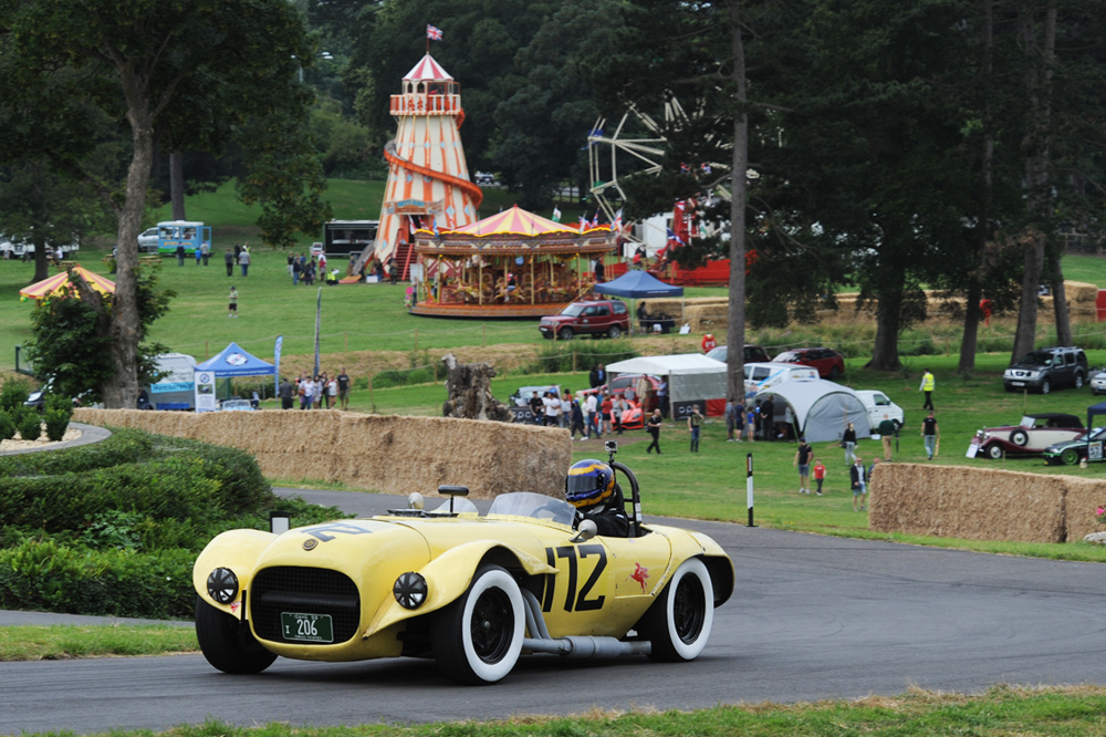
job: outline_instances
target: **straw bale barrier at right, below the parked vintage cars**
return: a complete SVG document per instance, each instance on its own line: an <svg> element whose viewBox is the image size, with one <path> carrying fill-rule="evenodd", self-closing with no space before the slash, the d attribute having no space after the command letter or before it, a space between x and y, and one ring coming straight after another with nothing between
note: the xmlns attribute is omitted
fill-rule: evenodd
<svg viewBox="0 0 1106 737"><path fill-rule="evenodd" d="M1098 531L1106 480L1024 471L880 464L873 530L966 540L1065 542Z"/></svg>

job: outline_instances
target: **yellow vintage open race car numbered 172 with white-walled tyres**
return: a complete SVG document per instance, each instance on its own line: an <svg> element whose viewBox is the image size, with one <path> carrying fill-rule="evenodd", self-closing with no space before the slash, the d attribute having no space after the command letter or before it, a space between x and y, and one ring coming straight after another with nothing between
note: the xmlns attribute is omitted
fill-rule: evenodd
<svg viewBox="0 0 1106 737"><path fill-rule="evenodd" d="M643 523L637 479L611 466L630 484L626 538L575 529L570 504L539 494L502 495L480 516L463 487L441 487L449 500L432 511L411 495L369 519L225 532L192 572L204 655L227 673L278 655L434 657L463 684L499 681L525 653L693 660L733 564L706 534Z"/></svg>

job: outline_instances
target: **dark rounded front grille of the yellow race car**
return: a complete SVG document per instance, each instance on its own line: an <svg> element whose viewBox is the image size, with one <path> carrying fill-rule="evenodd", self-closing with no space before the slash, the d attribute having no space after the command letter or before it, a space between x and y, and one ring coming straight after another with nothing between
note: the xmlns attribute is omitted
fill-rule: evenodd
<svg viewBox="0 0 1106 737"><path fill-rule="evenodd" d="M330 615L334 643L353 637L361 624L357 587L338 571L294 565L267 568L253 578L248 595L253 631L262 640L292 642L283 636L281 627L281 614L285 612Z"/></svg>

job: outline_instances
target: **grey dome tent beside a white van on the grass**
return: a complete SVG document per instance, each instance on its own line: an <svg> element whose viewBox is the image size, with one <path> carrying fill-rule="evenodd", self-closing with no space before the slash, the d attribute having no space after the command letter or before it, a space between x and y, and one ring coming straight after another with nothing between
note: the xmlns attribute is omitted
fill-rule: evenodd
<svg viewBox="0 0 1106 737"><path fill-rule="evenodd" d="M768 396L775 406L775 422L783 421L784 403L791 406L799 436L807 443L839 440L845 423L853 423L857 437L872 433L864 404L847 386L824 378L796 378L764 390L757 398Z"/></svg>

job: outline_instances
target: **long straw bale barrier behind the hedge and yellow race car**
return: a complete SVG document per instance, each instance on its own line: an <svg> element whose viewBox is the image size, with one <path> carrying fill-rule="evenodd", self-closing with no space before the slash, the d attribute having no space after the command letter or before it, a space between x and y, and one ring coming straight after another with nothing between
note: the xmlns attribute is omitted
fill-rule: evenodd
<svg viewBox="0 0 1106 737"><path fill-rule="evenodd" d="M508 491L564 494L567 430L450 417L349 412L156 412L90 409L73 418L252 453L270 478L348 484L389 494L469 487L477 499Z"/></svg>

